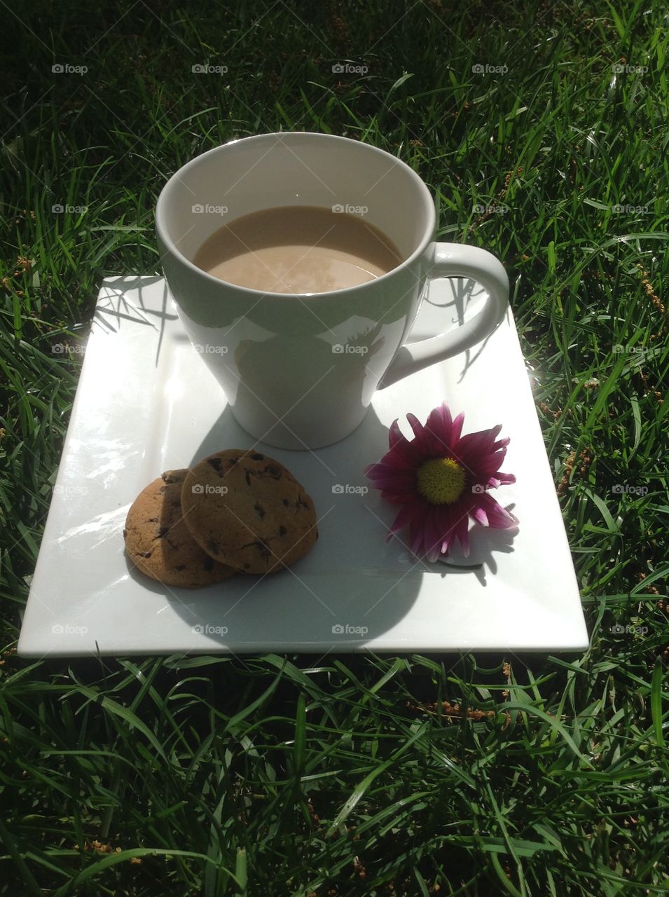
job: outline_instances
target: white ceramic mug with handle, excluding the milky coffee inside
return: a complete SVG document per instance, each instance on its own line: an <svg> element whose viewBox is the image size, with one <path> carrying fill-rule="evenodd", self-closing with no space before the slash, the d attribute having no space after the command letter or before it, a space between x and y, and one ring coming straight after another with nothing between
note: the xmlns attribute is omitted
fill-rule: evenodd
<svg viewBox="0 0 669 897"><path fill-rule="evenodd" d="M368 283L291 296L226 283L193 264L224 223L281 205L361 214L404 260ZM162 265L191 342L239 424L280 448L342 440L376 389L463 352L500 323L508 303L500 261L484 249L434 242L435 227L430 191L408 165L323 134L259 135L204 152L169 179L156 206ZM464 325L407 345L427 284L438 277L471 278L489 299Z"/></svg>

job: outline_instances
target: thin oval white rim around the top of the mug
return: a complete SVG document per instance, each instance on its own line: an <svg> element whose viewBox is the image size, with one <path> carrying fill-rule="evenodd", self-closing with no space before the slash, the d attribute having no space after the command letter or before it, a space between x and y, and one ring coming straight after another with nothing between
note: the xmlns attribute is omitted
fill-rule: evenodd
<svg viewBox="0 0 669 897"><path fill-rule="evenodd" d="M195 168L197 165L202 163L202 160L205 156L213 155L214 153L220 153L228 147L235 146L236 144L245 144L250 141L266 141L270 138L279 138L282 140L285 137L291 136L307 136L309 138L316 138L318 140L335 140L341 141L346 144L355 144L356 146L363 146L366 150L370 152L381 153L383 156L387 156L388 161L392 161L395 165L400 165L404 170L409 174L410 178L415 183L416 189L421 194L421 200L426 207L426 213L428 222L425 227L425 231L423 231L423 235L418 243L418 246L413 250L411 255L407 258L404 258L403 261L399 263L399 265L395 265L394 268L391 268L390 271L387 271L385 274L380 274L374 280L365 281L364 283L356 283L353 286L343 287L341 290L329 290L326 292L265 292L263 290L255 290L251 287L241 286L239 283L232 283L231 281L222 280L221 277L215 277L213 274L209 274L209 272L204 271L203 268L200 268L195 265L194 262L191 262L189 258L187 258L178 248L175 242L169 237L167 233L167 227L163 223L163 218L165 215L164 208L169 202L169 193L174 188L175 184L181 179L184 172L187 169ZM398 274L404 268L413 264L413 261L420 257L425 249L428 247L430 242L432 242L434 238L434 231L437 225L437 213L435 212L434 202L432 196L430 194L430 190L427 185L421 179L420 175L418 175L413 168L406 164L401 159L398 159L396 156L392 155L392 153L387 152L386 150L380 149L378 146L374 146L373 144L364 144L359 140L352 140L351 137L342 137L340 135L335 134L321 134L319 131L277 131L271 132L269 134L256 134L250 135L248 137L236 137L233 140L229 140L225 144L220 144L219 146L213 146L212 149L206 150L205 152L201 152L196 155L193 159L187 161L184 165L182 165L178 170L171 175L171 177L165 182L163 185L161 192L158 196L158 200L156 202L155 207L155 228L158 235L158 238L161 240L161 243L166 248L166 252L162 253L161 260L166 254L171 254L173 257L176 257L178 262L182 265L187 266L194 274L199 274L204 277L206 280L212 283L222 283L225 286L230 287L233 290L248 293L249 296L256 297L258 299L262 296L267 296L270 299L286 299L290 298L291 300L296 297L299 299L325 299L328 296L341 296L345 293L356 292L359 290L363 290L366 287L374 286L377 283L381 283L382 281L387 280L388 278Z"/></svg>

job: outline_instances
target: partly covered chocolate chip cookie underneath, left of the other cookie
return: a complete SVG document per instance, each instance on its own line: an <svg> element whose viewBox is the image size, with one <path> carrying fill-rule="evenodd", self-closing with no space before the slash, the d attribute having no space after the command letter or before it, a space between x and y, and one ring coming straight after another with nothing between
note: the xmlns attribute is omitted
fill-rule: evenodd
<svg viewBox="0 0 669 897"><path fill-rule="evenodd" d="M137 570L166 586L198 588L235 572L195 542L183 520L181 487L187 470L169 470L139 493L127 512L126 552Z"/></svg>

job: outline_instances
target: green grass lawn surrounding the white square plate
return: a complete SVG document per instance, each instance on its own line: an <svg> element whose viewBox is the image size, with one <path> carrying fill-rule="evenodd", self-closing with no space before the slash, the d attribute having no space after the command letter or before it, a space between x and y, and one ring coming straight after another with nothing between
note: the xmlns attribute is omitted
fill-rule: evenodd
<svg viewBox="0 0 669 897"><path fill-rule="evenodd" d="M665 893L665 4L224 5L0 4L0 893ZM395 153L504 259L582 657L13 654L79 371L51 344L157 269L171 172L280 129Z"/></svg>

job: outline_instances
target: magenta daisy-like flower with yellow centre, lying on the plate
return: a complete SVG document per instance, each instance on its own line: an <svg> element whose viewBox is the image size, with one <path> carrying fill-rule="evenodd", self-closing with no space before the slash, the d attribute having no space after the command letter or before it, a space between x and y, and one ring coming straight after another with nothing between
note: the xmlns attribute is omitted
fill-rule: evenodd
<svg viewBox="0 0 669 897"><path fill-rule="evenodd" d="M488 492L516 482L513 474L500 472L509 442L496 439L501 424L461 436L465 415L453 420L446 402L430 412L425 426L414 414L406 417L413 440L395 421L388 433L390 450L365 468L381 495L402 505L388 539L408 526L413 554L436 561L456 539L465 556L469 553L470 517L484 527L516 526L517 518Z"/></svg>

